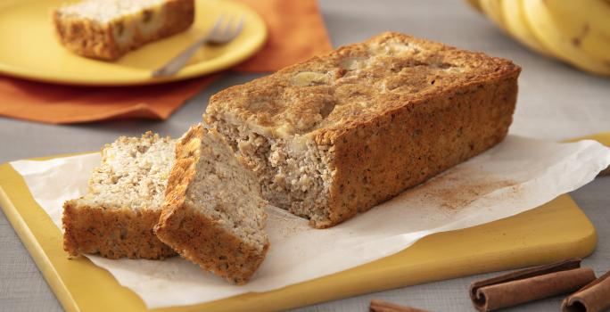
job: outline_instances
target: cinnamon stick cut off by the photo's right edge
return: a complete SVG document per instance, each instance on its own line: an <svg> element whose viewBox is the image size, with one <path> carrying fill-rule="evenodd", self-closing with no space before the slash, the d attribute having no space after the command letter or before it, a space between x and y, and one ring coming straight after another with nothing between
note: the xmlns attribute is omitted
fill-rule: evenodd
<svg viewBox="0 0 610 312"><path fill-rule="evenodd" d="M561 304L564 312L597 312L610 308L610 272L568 296Z"/></svg>

